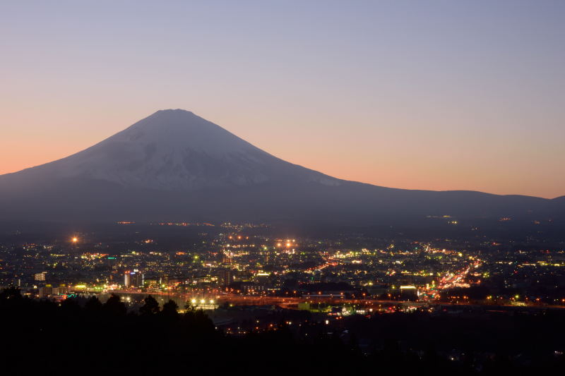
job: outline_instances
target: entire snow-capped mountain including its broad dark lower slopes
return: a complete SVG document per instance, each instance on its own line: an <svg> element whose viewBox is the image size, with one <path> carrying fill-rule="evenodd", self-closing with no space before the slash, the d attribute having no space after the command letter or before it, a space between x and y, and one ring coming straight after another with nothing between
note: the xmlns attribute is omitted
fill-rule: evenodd
<svg viewBox="0 0 565 376"><path fill-rule="evenodd" d="M86 150L0 176L0 220L370 224L562 209L562 200L343 181L285 162L181 109L157 111Z"/></svg>

